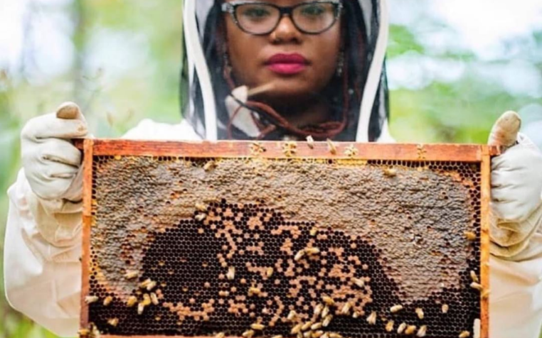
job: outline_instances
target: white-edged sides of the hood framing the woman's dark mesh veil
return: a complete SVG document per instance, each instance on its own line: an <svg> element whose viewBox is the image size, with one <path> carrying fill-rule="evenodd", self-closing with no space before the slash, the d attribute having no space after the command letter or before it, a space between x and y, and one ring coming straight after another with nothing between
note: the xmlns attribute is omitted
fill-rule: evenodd
<svg viewBox="0 0 542 338"><path fill-rule="evenodd" d="M361 104L356 107L356 127L351 141L368 142L387 133L388 86L386 83L386 46L388 44L388 9L386 0L356 1L363 13L367 35L367 59L370 65L363 84ZM186 60L181 72L181 97L184 116L197 133L210 141L220 137L225 129L218 118L216 93L204 48L205 27L214 0L184 0L184 48ZM188 84L188 86L186 86ZM199 104L198 104L199 102ZM203 110L203 111L202 111ZM371 137L372 135L372 137Z"/></svg>

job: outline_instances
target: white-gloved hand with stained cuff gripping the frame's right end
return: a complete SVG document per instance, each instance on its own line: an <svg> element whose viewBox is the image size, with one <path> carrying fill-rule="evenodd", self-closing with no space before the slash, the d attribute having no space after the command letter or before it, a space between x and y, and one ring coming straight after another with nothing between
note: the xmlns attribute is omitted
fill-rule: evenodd
<svg viewBox="0 0 542 338"><path fill-rule="evenodd" d="M491 160L491 254L505 258L523 251L542 224L542 153L520 126L507 111L489 136L504 151Z"/></svg>

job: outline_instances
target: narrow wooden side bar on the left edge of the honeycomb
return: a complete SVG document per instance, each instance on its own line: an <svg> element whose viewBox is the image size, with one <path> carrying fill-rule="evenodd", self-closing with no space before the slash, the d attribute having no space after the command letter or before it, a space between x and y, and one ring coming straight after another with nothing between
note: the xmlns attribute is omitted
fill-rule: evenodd
<svg viewBox="0 0 542 338"><path fill-rule="evenodd" d="M81 256L81 316L80 327L88 327L88 305L85 296L90 291L89 268L90 268L90 227L92 227L92 158L94 141L86 139L83 143L83 249Z"/></svg>

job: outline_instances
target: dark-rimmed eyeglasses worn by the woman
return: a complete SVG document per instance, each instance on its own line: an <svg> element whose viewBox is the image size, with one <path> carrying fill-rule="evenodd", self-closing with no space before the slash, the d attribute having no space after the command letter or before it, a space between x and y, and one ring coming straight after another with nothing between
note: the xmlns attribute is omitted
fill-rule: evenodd
<svg viewBox="0 0 542 338"><path fill-rule="evenodd" d="M255 36L275 31L285 15L292 19L294 26L302 33L324 33L334 25L342 9L340 0L310 1L288 7L261 1L230 1L222 4L222 11L230 13L242 31Z"/></svg>

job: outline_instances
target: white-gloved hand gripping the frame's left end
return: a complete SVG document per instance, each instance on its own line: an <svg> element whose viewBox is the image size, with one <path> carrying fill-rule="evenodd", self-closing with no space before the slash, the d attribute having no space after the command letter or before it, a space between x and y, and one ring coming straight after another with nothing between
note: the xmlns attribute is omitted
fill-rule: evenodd
<svg viewBox="0 0 542 338"><path fill-rule="evenodd" d="M81 153L70 139L87 136L87 122L77 104L66 102L56 113L31 119L21 132L23 168L41 200L82 197Z"/></svg>

